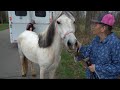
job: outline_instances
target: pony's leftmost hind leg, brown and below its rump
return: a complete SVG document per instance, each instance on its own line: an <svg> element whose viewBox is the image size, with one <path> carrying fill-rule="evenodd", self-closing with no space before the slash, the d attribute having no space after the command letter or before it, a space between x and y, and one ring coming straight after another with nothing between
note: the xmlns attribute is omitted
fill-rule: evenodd
<svg viewBox="0 0 120 90"><path fill-rule="evenodd" d="M28 61L27 58L25 56L20 56L20 61L21 61L21 73L22 73L22 77L26 77L27 75L27 71L28 71Z"/></svg>

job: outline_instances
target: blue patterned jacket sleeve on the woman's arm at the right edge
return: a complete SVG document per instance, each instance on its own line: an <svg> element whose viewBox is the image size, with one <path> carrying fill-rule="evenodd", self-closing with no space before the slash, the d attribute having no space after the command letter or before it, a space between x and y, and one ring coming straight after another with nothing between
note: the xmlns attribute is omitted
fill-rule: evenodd
<svg viewBox="0 0 120 90"><path fill-rule="evenodd" d="M102 77L103 75L120 75L120 42L112 47L111 58L112 60L109 64L95 65L95 70L99 76Z"/></svg>

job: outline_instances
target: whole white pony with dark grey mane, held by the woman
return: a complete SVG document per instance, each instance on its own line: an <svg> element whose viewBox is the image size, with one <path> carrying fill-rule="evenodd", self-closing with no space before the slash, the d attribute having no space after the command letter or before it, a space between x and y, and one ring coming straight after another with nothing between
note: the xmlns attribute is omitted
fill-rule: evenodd
<svg viewBox="0 0 120 90"><path fill-rule="evenodd" d="M55 71L61 59L61 46L64 43L68 50L75 50L77 39L74 35L75 19L71 13L62 11L47 29L36 34L24 31L18 37L18 51L22 65L22 76L27 73L27 60L37 63L40 67L40 79L45 78L45 71L49 70L49 78L54 78ZM35 71L32 69L33 75Z"/></svg>

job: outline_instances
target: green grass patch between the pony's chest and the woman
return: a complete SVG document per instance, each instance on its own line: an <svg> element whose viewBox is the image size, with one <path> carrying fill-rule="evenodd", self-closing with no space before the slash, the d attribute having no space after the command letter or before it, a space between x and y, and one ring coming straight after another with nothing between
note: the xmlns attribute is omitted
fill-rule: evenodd
<svg viewBox="0 0 120 90"><path fill-rule="evenodd" d="M83 79L85 70L80 62L74 62L73 56L63 50L56 77L58 79Z"/></svg>

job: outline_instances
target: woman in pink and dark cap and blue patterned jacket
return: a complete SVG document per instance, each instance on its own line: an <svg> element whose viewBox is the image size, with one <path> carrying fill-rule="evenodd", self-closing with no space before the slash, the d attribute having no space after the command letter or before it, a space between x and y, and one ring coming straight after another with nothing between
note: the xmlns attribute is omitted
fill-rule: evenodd
<svg viewBox="0 0 120 90"><path fill-rule="evenodd" d="M86 69L86 76L91 78L91 72L99 79L117 79L120 76L120 40L112 32L115 23L114 16L109 13L92 20L91 30L96 37L90 45L79 47L80 55L75 60L88 58L91 65Z"/></svg>

